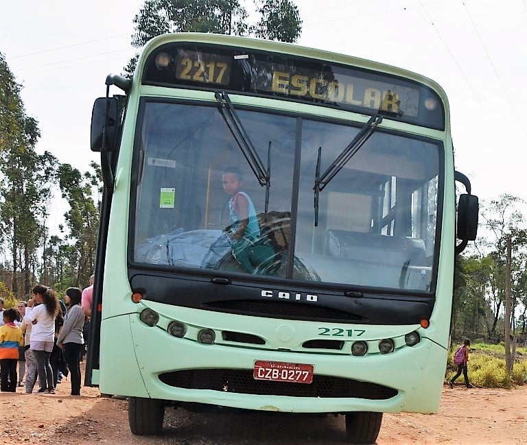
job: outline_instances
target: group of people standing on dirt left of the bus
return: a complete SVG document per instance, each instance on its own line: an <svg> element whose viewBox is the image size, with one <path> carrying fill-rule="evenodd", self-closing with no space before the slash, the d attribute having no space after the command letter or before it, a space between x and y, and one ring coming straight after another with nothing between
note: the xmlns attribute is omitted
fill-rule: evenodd
<svg viewBox="0 0 527 445"><path fill-rule="evenodd" d="M17 383L23 385L25 372L27 394L34 392L37 377L38 393L55 394L60 368L57 357L62 357L70 376L71 395L80 395L85 313L89 315L90 312L82 306L90 304L91 308L91 289L93 276L90 287L84 291L78 287L66 289L65 302L62 302L50 287L36 285L32 289L33 298L27 303L20 302L16 309L0 312L3 322L0 326L1 391L16 392ZM86 300L84 304L83 299ZM21 375L17 379L19 360L20 363L25 361L25 365L20 365Z"/></svg>

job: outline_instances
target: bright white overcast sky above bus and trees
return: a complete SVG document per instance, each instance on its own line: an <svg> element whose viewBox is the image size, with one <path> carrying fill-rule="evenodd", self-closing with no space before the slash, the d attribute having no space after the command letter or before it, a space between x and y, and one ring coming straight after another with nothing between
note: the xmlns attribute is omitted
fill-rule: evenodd
<svg viewBox="0 0 527 445"><path fill-rule="evenodd" d="M106 94L106 75L121 73L134 55L133 19L143 3L0 0L0 52L23 87L26 114L38 121L38 152L80 171L98 162L89 147L93 101ZM438 82L449 97L456 169L472 193L486 202L505 193L527 200L527 0L294 3L303 20L298 45ZM60 222L61 213L51 215L51 226Z"/></svg>

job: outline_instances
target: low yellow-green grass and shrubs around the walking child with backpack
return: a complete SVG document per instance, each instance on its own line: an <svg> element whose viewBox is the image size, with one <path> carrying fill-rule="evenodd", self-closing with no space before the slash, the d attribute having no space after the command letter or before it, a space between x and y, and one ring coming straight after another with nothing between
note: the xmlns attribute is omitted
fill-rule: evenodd
<svg viewBox="0 0 527 445"><path fill-rule="evenodd" d="M457 346L449 353L446 379L452 378L456 373L454 365L454 352ZM516 349L516 360L513 372L509 373L505 365L505 348L503 344L478 343L471 346L469 355L469 381L472 385L485 388L511 388L514 385L527 383L527 348ZM462 380L461 375L457 382Z"/></svg>

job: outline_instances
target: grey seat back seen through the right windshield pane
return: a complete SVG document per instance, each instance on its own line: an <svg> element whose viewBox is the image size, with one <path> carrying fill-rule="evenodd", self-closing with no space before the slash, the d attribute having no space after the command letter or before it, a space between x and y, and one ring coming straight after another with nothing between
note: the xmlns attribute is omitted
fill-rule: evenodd
<svg viewBox="0 0 527 445"><path fill-rule="evenodd" d="M421 266L426 262L425 242L422 239L349 230L327 231L326 254L384 264Z"/></svg>

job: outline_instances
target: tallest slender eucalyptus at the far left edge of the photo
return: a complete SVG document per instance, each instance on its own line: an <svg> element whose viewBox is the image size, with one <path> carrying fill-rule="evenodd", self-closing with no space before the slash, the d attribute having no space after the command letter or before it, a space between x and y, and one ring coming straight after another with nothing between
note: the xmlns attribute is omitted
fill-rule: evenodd
<svg viewBox="0 0 527 445"><path fill-rule="evenodd" d="M36 153L38 122L26 115L20 91L0 55L0 234L16 296L29 293L35 279L57 163L49 152Z"/></svg>

